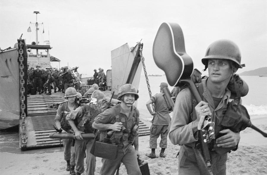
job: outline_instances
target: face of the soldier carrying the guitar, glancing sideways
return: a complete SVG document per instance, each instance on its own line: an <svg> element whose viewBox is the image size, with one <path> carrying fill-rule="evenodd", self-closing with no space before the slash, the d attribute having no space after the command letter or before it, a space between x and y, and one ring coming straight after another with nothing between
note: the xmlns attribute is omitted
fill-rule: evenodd
<svg viewBox="0 0 267 175"><path fill-rule="evenodd" d="M233 69L225 59L209 59L208 61L209 79L214 83L226 82L230 80ZM226 82L226 83L228 83Z"/></svg>

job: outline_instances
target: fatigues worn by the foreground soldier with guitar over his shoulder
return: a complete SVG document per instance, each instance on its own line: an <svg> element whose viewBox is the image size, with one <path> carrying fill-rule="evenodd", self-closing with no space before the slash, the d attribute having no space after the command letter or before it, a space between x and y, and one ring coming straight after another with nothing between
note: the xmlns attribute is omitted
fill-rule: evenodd
<svg viewBox="0 0 267 175"><path fill-rule="evenodd" d="M224 97L221 99L219 105L215 108L214 100L211 93L206 87L207 79L202 80L203 85L203 100L209 103L209 108L212 112L211 118L215 122L215 133L218 133L219 122L225 115L228 100L231 92L226 89ZM179 171L183 174L200 175L201 172L197 166L196 156L193 149L200 149L197 146L198 122L194 121L196 113L193 109L193 96L188 88L179 92L176 98L173 117L169 126L169 138L174 145L181 145L179 153ZM217 154L215 151L210 151L212 172L215 175L226 174L226 160L227 153Z"/></svg>

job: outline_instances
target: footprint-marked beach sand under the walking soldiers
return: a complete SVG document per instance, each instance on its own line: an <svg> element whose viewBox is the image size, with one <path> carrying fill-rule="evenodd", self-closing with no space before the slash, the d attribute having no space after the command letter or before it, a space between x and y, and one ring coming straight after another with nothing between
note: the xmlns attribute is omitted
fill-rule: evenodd
<svg viewBox="0 0 267 175"><path fill-rule="evenodd" d="M252 116L252 123L267 132L267 116ZM239 148L235 152L228 154L227 174L267 174L267 138L251 128L241 131L241 140ZM159 144L158 139L158 144ZM140 158L148 162L150 174L178 174L178 158L176 158L179 150L178 145L173 145L168 140L166 149L166 158L160 158L160 149L156 149L155 159L145 156L150 152L149 136L139 137ZM101 158L96 158L96 172L98 175L102 166ZM12 154L0 153L0 174L5 175L68 175L66 162L63 158L63 152L58 151L52 153L34 153L34 154ZM83 173L85 174L85 173ZM120 175L127 174L125 167L121 166Z"/></svg>

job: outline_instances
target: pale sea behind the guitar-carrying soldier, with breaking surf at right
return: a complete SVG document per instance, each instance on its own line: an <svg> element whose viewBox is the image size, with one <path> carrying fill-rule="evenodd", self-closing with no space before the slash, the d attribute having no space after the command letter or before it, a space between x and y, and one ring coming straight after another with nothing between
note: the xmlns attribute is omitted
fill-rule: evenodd
<svg viewBox="0 0 267 175"><path fill-rule="evenodd" d="M242 97L242 105L247 108L249 115L267 115L267 77L241 76L241 78L249 86L249 93ZM167 82L166 76L148 76L148 80L152 95L160 92L160 82ZM173 87L169 86L169 89L171 91ZM152 118L145 105L149 98L145 76L141 75L137 108L140 111L140 118L144 117L147 120Z"/></svg>

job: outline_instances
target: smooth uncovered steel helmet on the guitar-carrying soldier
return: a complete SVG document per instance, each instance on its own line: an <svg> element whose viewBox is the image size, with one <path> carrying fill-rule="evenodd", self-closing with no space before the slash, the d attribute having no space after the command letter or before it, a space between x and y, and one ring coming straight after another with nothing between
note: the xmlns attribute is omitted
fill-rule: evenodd
<svg viewBox="0 0 267 175"><path fill-rule="evenodd" d="M238 68L245 66L241 65L241 53L238 46L233 41L225 39L217 40L209 45L205 57L201 60L205 65L205 70L208 67L209 59L232 60L238 65Z"/></svg>

